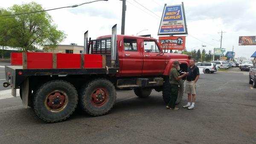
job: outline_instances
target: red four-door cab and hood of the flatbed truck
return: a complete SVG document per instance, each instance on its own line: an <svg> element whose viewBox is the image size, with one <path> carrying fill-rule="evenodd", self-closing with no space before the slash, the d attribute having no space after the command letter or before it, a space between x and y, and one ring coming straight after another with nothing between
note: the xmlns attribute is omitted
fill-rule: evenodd
<svg viewBox="0 0 256 144"><path fill-rule="evenodd" d="M182 71L186 71L189 65L188 55L163 53L163 49L160 48L155 38L128 35L116 37L120 69L118 76L169 75L172 62L175 60L182 63L180 66ZM105 39L110 41L111 35L98 37L96 43ZM98 47L105 48L104 46ZM94 49L97 48L93 47L92 52L95 52ZM106 54L104 49L101 54Z"/></svg>

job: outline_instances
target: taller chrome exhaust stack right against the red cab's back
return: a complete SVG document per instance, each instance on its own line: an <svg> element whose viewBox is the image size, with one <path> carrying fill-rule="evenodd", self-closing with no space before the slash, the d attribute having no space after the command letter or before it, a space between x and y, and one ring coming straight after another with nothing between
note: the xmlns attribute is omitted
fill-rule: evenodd
<svg viewBox="0 0 256 144"><path fill-rule="evenodd" d="M117 46L116 46L116 25L115 24L112 27L112 37L111 37L111 67L115 67L116 65L116 51L117 51Z"/></svg>

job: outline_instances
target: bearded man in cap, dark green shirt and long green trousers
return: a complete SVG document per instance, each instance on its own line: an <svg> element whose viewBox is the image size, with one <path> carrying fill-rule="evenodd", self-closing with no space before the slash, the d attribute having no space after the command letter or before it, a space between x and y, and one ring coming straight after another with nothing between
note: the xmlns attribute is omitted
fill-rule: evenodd
<svg viewBox="0 0 256 144"><path fill-rule="evenodd" d="M175 60L172 69L170 70L169 74L169 83L171 89L170 101L167 104L167 109L178 110L179 108L175 107L175 102L178 97L178 89L179 89L179 81L182 81L182 78L188 75L189 73L184 72L183 75L180 76L178 70L180 70L180 62Z"/></svg>

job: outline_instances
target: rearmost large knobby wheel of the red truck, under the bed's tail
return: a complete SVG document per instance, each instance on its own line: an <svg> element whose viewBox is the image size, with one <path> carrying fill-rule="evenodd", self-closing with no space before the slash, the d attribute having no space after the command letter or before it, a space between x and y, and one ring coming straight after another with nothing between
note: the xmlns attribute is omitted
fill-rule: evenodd
<svg viewBox="0 0 256 144"><path fill-rule="evenodd" d="M54 123L69 118L77 103L76 88L67 81L54 80L35 91L33 109L38 118Z"/></svg>

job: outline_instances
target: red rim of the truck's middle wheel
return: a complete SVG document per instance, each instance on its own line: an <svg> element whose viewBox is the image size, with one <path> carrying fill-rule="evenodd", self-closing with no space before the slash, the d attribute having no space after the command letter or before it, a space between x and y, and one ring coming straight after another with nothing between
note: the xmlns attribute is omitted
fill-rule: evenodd
<svg viewBox="0 0 256 144"><path fill-rule="evenodd" d="M94 106L100 107L108 101L108 92L104 88L97 88L93 90L90 98Z"/></svg>

